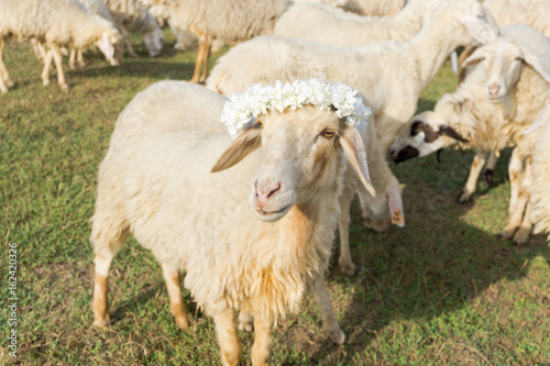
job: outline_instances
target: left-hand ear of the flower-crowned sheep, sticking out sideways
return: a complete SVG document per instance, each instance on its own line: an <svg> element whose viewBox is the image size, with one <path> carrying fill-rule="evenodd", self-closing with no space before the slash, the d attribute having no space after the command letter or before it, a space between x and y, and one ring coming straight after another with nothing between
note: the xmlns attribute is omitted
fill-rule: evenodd
<svg viewBox="0 0 550 366"><path fill-rule="evenodd" d="M244 131L229 145L210 171L218 173L231 168L261 145L262 134L260 129Z"/></svg>

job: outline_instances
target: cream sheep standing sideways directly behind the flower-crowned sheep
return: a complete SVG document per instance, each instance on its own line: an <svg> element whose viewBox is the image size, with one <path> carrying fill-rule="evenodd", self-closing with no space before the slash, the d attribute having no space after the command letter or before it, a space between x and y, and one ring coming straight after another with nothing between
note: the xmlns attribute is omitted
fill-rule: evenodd
<svg viewBox="0 0 550 366"><path fill-rule="evenodd" d="M255 37L220 57L207 88L231 95L256 82L306 77L352 85L369 99L386 152L447 56L474 40L487 43L498 32L476 0L437 2L430 8L437 15L405 43L336 47L276 35Z"/></svg>

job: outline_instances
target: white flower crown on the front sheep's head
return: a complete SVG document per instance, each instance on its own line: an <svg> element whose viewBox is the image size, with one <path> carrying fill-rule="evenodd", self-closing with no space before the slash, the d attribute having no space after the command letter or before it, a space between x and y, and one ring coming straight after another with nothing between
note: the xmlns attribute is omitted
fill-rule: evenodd
<svg viewBox="0 0 550 366"><path fill-rule="evenodd" d="M293 84L275 81L274 86L253 85L246 91L229 97L223 104L220 121L228 126L234 137L244 126L260 114L277 110L312 104L318 109L333 111L339 118L345 118L345 124L358 129L366 126L371 109L356 97L356 90L338 84L321 84L317 79L296 80Z"/></svg>

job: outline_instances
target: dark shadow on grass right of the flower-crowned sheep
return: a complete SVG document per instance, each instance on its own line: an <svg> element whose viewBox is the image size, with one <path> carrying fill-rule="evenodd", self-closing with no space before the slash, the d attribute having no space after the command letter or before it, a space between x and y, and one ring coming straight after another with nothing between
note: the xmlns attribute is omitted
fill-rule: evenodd
<svg viewBox="0 0 550 366"><path fill-rule="evenodd" d="M442 175L443 170L455 169L457 164L469 162L469 155L461 152L449 155L450 167L432 167L433 171L427 175ZM343 275L338 267L337 249L328 279L329 285L340 282L354 291L340 322L349 337L343 345L346 355L363 354L372 342L383 342L378 334L394 320L426 322L426 319L441 315L446 319L446 313L471 304L481 293L494 296L496 300L498 290L492 288L494 284L524 278L529 270L528 264L537 256L550 262L550 247L541 235L531 236L525 247L517 247L480 229L483 224L464 222L462 218L476 203L454 203L455 196L449 193L458 193L462 180L449 177L450 173L443 174L439 180L432 177L422 180L421 175L417 180L403 178L416 169L429 171L429 164L437 164L426 160L394 169L402 175L397 174L397 177L407 182L404 190L405 229L392 228L389 232L378 234L370 232L362 226L359 204L352 208L350 243L359 270L353 276ZM507 165L505 156L501 160L498 175L506 170ZM468 170L462 169L462 174L465 179ZM480 214L482 222L483 210L480 211L476 219ZM446 329L452 330L453 325L448 324ZM421 342L430 344L435 340ZM336 353L342 354L342 348L330 341L323 341L318 350L311 355L311 365L328 364L333 362L331 357ZM349 363L349 357L343 361L343 364Z"/></svg>

